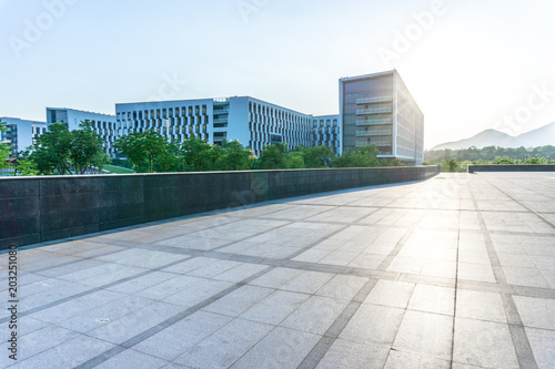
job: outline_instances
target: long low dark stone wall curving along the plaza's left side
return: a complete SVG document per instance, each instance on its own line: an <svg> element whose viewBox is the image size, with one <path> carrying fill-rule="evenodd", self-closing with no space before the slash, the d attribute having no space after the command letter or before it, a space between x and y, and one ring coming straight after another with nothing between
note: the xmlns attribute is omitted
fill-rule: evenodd
<svg viewBox="0 0 555 369"><path fill-rule="evenodd" d="M437 173L414 166L0 178L0 249Z"/></svg>

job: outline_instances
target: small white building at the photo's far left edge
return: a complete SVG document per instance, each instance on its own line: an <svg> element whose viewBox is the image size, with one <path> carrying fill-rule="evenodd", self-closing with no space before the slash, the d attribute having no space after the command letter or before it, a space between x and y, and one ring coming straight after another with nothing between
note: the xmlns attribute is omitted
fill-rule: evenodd
<svg viewBox="0 0 555 369"><path fill-rule="evenodd" d="M19 117L0 117L6 122L7 132L0 132L0 141L11 146L10 156L14 157L19 152L32 146L34 139L47 132L47 123L28 121Z"/></svg>

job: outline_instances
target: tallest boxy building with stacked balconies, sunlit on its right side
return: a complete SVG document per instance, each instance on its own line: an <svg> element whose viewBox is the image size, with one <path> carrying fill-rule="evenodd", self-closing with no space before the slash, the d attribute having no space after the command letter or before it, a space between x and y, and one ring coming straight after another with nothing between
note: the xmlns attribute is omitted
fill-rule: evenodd
<svg viewBox="0 0 555 369"><path fill-rule="evenodd" d="M343 151L375 144L379 157L421 165L424 114L396 70L340 80Z"/></svg>

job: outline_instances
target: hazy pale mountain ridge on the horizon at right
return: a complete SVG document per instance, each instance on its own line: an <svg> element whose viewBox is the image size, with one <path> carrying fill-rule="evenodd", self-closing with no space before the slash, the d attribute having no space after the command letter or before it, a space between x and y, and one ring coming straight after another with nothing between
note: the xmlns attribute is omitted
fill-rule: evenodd
<svg viewBox="0 0 555 369"><path fill-rule="evenodd" d="M521 135L512 136L509 134L495 131L486 130L472 136L470 139L447 142L433 147L432 150L461 150L475 146L482 148L485 146L500 146L500 147L537 147L545 145L555 146L555 122L552 124L544 125L534 131L523 133Z"/></svg>

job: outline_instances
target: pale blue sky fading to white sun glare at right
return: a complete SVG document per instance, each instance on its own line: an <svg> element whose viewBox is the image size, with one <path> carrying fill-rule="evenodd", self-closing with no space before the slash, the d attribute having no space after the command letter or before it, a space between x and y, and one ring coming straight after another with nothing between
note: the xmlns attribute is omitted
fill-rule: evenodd
<svg viewBox="0 0 555 369"><path fill-rule="evenodd" d="M555 122L553 0L0 0L0 116L234 95L336 114L340 78L397 69L427 148Z"/></svg>

